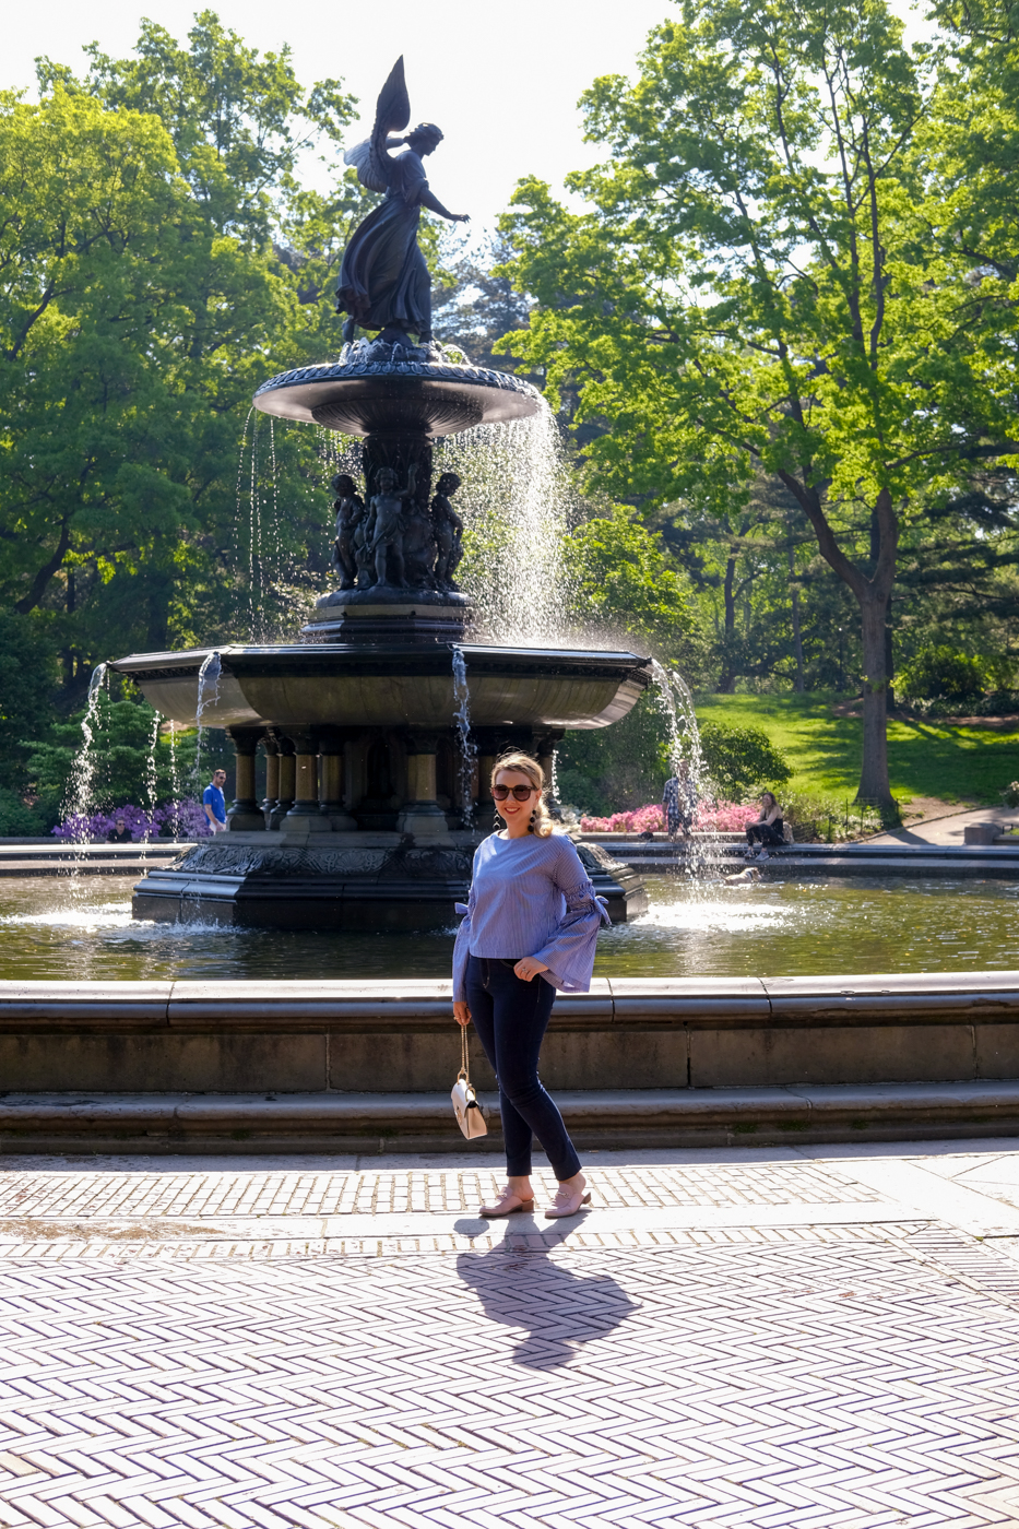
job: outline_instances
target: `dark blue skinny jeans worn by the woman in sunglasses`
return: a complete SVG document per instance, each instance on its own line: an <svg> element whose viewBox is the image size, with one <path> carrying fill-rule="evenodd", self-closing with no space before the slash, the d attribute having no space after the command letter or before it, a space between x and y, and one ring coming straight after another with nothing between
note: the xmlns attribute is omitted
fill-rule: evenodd
<svg viewBox="0 0 1019 1529"><path fill-rule="evenodd" d="M580 1173L580 1157L563 1116L542 1087L537 1060L552 1017L555 988L543 977L522 982L513 966L487 956L467 959L467 1006L499 1083L506 1174L531 1173L531 1138L537 1136L562 1182Z"/></svg>

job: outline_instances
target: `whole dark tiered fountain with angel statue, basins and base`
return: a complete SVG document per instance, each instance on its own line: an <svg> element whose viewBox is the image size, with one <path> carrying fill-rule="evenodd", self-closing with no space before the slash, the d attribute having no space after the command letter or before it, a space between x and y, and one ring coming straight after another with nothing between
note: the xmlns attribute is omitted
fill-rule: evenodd
<svg viewBox="0 0 1019 1529"><path fill-rule="evenodd" d="M370 139L346 156L384 200L344 252L340 359L274 376L254 398L266 414L361 437L363 485L334 479L338 587L294 642L113 664L165 717L223 728L236 751L228 832L150 870L135 888L136 917L448 925L473 850L491 832L497 755L526 748L552 778L566 728L617 722L652 682L650 661L633 653L480 641L477 612L457 589L461 485L453 472L435 482L435 443L546 405L528 382L465 364L431 336L418 220L422 206L461 219L424 173L442 133L425 122L390 136L409 121L399 60ZM578 849L614 920L647 907L633 872Z"/></svg>

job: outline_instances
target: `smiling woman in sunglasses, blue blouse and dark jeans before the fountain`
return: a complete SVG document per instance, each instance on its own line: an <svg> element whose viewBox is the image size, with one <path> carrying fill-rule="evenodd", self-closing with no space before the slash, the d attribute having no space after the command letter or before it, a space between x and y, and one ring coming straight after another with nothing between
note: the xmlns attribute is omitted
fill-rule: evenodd
<svg viewBox="0 0 1019 1529"><path fill-rule="evenodd" d="M575 1216L591 1194L537 1063L555 989L588 992L598 928L609 916L572 842L552 833L537 760L505 754L491 772L491 794L505 827L477 847L453 953L453 1014L459 1024L474 1021L496 1072L506 1144L506 1183L482 1216L534 1209L532 1136L558 1179L545 1214Z"/></svg>

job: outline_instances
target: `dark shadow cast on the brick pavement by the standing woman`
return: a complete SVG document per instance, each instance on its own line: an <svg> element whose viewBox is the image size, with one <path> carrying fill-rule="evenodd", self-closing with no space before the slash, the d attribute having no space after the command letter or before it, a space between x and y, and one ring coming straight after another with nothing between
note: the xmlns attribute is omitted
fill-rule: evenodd
<svg viewBox="0 0 1019 1529"><path fill-rule="evenodd" d="M534 1228L525 1220L526 1231ZM477 1235L488 1222L457 1222L456 1229ZM514 1225L513 1231L523 1228ZM607 1274L577 1275L549 1258L566 1242L571 1226L542 1229L542 1246L513 1249L506 1245L490 1252L462 1252L456 1272L477 1292L485 1316L506 1327L526 1327L528 1336L514 1349L514 1364L532 1370L557 1370L569 1364L580 1344L606 1338L627 1320L638 1303ZM513 1235L508 1231L508 1235Z"/></svg>

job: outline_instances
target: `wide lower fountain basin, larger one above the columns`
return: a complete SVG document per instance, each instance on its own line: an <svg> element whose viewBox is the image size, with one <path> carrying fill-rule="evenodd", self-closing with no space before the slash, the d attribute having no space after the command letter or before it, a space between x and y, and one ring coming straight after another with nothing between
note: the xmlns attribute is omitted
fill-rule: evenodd
<svg viewBox="0 0 1019 1529"><path fill-rule="evenodd" d="M607 728L652 682L635 653L457 644L467 665L471 726ZM135 653L110 667L136 680L173 722L194 723L202 661L219 651L205 726L448 728L453 645L280 644Z"/></svg>

